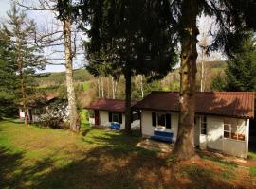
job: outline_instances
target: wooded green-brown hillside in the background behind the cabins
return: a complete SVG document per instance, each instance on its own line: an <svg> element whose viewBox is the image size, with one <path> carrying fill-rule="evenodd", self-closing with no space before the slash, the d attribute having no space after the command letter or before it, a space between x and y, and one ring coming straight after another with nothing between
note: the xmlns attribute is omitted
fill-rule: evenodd
<svg viewBox="0 0 256 189"><path fill-rule="evenodd" d="M211 80L213 77L223 73L227 63L225 61L207 61L205 62L205 91L210 91ZM200 89L201 64L197 63L197 90ZM141 80L139 77L133 77L132 98L141 99ZM65 72L39 74L36 78L37 89L40 93L56 96L66 96ZM117 82L115 97L124 99L124 77L120 77ZM86 69L74 71L74 84L79 107L86 106L92 99L97 97L113 97L112 77L93 77ZM151 83L145 77L142 80L144 96L151 91L178 91L179 90L179 68L167 75L161 80L155 80Z"/></svg>

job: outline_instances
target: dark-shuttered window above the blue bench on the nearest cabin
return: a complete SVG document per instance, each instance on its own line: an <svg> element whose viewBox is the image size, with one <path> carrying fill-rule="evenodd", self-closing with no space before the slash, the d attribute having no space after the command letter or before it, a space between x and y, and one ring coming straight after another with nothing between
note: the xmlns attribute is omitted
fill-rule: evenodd
<svg viewBox="0 0 256 189"><path fill-rule="evenodd" d="M152 112L152 125L155 127L171 129L171 114L163 112Z"/></svg>

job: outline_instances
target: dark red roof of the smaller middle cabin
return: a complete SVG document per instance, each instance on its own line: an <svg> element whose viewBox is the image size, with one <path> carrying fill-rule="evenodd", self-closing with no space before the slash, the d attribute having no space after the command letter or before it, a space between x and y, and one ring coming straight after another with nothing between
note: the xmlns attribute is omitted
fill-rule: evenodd
<svg viewBox="0 0 256 189"><path fill-rule="evenodd" d="M132 101L132 106L136 103L136 101ZM110 112L125 112L125 100L99 98L98 100L91 102L91 104L85 107L85 109Z"/></svg>

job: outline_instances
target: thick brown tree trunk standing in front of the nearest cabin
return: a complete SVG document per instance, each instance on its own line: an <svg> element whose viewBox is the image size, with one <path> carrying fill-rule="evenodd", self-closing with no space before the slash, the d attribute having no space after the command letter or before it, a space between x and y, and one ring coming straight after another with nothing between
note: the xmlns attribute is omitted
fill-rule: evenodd
<svg viewBox="0 0 256 189"><path fill-rule="evenodd" d="M177 140L174 155L179 160L190 159L194 155L194 108L196 75L196 0L184 0L182 3L181 30L181 68L180 68L180 113Z"/></svg>

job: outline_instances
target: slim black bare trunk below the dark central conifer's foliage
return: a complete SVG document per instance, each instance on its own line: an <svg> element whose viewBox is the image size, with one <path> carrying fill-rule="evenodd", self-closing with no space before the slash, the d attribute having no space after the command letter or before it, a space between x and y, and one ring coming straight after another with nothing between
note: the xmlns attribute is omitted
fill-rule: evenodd
<svg viewBox="0 0 256 189"><path fill-rule="evenodd" d="M129 65L126 65L125 68L125 131L127 133L131 132L131 69Z"/></svg>

